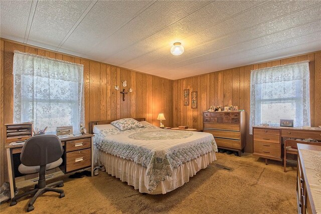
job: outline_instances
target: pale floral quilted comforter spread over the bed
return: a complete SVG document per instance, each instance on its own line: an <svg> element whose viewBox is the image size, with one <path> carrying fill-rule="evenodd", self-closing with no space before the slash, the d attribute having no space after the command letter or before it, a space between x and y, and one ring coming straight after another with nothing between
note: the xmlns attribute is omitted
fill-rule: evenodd
<svg viewBox="0 0 321 214"><path fill-rule="evenodd" d="M173 168L217 151L212 134L205 132L164 130L153 125L120 131L101 130L94 137L96 147L106 153L129 159L147 168L148 190L171 176Z"/></svg>

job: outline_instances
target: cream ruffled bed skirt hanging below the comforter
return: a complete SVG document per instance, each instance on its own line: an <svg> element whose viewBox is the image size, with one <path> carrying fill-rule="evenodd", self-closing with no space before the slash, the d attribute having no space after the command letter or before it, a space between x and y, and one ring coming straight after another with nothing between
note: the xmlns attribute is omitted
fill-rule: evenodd
<svg viewBox="0 0 321 214"><path fill-rule="evenodd" d="M166 180L161 181L156 189L151 192L147 189L149 176L146 175L147 169L145 167L131 160L122 159L94 148L95 166L104 165L108 174L134 186L139 192L148 194L165 194L184 185L190 180L190 177L193 177L199 170L206 168L214 160L216 160L216 156L215 152L212 151L174 168L172 176L167 176Z"/></svg>

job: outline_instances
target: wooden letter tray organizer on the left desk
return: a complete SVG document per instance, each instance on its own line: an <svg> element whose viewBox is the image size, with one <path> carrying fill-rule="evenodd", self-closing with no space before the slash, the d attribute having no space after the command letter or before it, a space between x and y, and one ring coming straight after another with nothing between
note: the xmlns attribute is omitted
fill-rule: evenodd
<svg viewBox="0 0 321 214"><path fill-rule="evenodd" d="M33 129L32 122L5 124L5 143L24 141L33 136Z"/></svg>

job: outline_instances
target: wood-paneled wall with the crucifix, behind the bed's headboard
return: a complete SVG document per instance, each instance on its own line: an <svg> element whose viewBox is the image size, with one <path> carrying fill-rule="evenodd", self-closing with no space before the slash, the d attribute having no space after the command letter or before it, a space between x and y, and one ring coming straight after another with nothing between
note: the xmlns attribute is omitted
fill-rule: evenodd
<svg viewBox="0 0 321 214"><path fill-rule="evenodd" d="M52 52L37 47L26 46L7 40L1 41L1 93L0 93L0 183L7 178L7 158L4 152L4 124L13 122L13 57L14 51L38 54L54 59L84 65L85 82L85 125L89 130L89 122L97 120L115 120L119 118L146 118L154 125L159 112L164 112L166 126L173 124L173 81L147 75L117 66L107 65L87 59L82 59L58 52ZM131 87L125 101L122 101L120 91L122 80L127 81L126 91ZM120 90L114 89L115 85Z"/></svg>

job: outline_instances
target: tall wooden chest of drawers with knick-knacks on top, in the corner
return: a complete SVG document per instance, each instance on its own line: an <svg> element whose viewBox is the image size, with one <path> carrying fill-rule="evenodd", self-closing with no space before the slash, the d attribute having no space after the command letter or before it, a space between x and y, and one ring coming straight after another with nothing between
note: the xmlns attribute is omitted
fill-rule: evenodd
<svg viewBox="0 0 321 214"><path fill-rule="evenodd" d="M245 147L245 111L204 112L203 131L213 134L218 148L241 151Z"/></svg>

